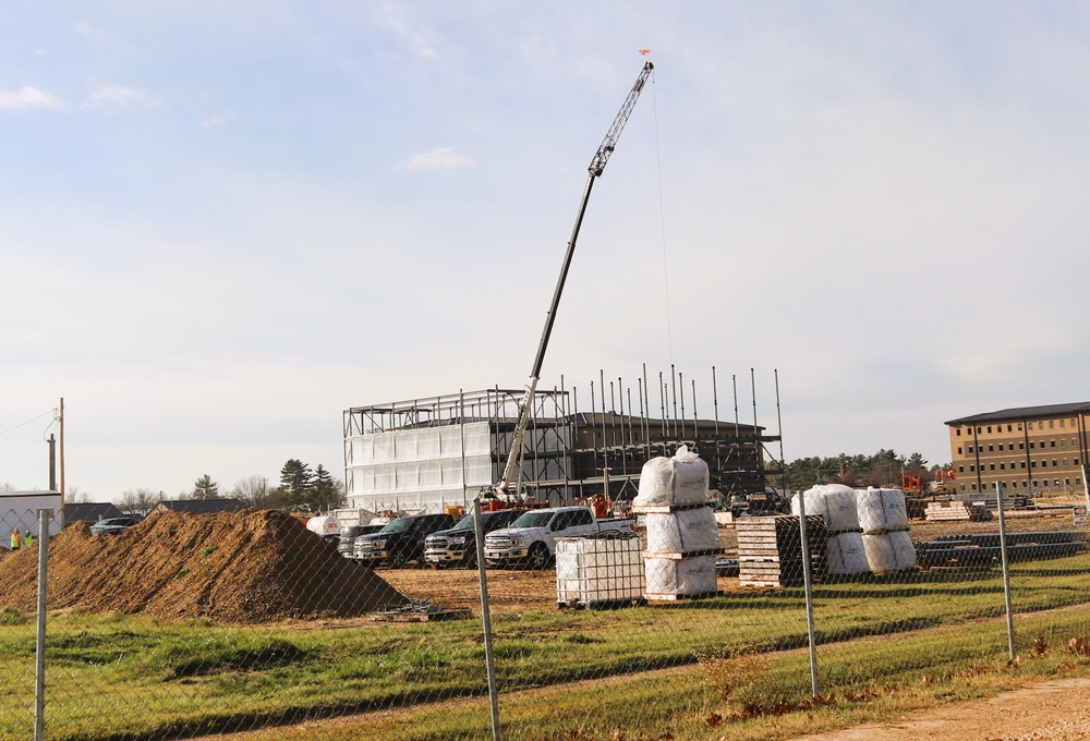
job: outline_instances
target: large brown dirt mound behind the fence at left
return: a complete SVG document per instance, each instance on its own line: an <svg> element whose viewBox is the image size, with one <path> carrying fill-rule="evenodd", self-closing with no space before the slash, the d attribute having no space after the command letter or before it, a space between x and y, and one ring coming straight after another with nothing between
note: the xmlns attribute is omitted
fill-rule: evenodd
<svg viewBox="0 0 1090 741"><path fill-rule="evenodd" d="M38 549L0 559L0 608L33 612ZM223 622L359 617L407 598L269 510L153 514L121 535L76 523L49 544L49 609Z"/></svg>

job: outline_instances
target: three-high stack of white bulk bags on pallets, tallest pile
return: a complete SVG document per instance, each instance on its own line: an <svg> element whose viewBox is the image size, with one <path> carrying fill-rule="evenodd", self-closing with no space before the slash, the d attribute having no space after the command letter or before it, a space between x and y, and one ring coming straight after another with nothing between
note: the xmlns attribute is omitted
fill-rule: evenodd
<svg viewBox="0 0 1090 741"><path fill-rule="evenodd" d="M708 496L707 464L681 446L671 458L647 461L632 512L643 517L649 600L671 602L718 593L715 556L723 552Z"/></svg>

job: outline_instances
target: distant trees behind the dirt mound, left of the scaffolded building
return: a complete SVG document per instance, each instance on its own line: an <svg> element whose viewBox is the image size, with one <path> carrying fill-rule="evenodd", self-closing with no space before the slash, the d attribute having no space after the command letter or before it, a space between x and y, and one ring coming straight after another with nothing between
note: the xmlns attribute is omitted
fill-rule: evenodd
<svg viewBox="0 0 1090 741"><path fill-rule="evenodd" d="M219 483L203 474L193 483L193 489L179 495L178 499L223 497L238 499L254 509L322 512L344 503L344 483L335 478L320 463L312 469L292 458L280 469L279 485L272 484L266 476L254 475L237 482L223 494ZM130 489L113 503L123 512L147 514L165 499L169 497L162 490Z"/></svg>

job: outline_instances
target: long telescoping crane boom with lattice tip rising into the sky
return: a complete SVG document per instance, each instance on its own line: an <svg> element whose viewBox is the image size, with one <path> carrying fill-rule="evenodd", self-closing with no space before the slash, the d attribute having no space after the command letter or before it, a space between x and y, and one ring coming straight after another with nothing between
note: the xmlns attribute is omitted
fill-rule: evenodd
<svg viewBox="0 0 1090 741"><path fill-rule="evenodd" d="M576 253L576 240L579 238L579 228L582 226L583 215L586 212L586 203L591 197L591 189L594 186L594 179L601 177L602 171L606 169L609 156L617 147L617 139L620 138L621 132L625 131L625 124L628 123L628 117L632 114L635 101L640 99L640 93L643 92L643 85L647 82L647 77L651 76L651 71L654 69L655 66L651 62L643 65L643 70L640 71L640 75L635 78L635 84L632 85L628 97L625 98L625 104L620 107L620 112L617 113L613 125L606 132L606 137L602 139L602 145L594 153L590 167L586 168L590 174L586 178L586 186L583 189L583 197L579 203L576 226L571 230L571 239L568 240L568 251L564 255L560 277L557 279L556 289L553 291L553 303L549 305L548 314L545 317L545 329L542 331L542 339L537 344L537 355L534 357L534 366L530 370L530 385L526 387L526 394L522 400L522 414L519 416L519 423L514 427L514 438L511 440L511 449L507 454L507 465L504 466L504 475L494 487L494 494L512 494L508 489L511 486L516 465L522 455L522 440L525 437L526 425L530 422L530 414L533 410L534 394L537 391L537 381L541 378L542 363L545 361L545 349L548 347L548 339L553 333L556 309L560 305L560 293L564 292L564 282L568 277L568 268L571 267L571 256Z"/></svg>

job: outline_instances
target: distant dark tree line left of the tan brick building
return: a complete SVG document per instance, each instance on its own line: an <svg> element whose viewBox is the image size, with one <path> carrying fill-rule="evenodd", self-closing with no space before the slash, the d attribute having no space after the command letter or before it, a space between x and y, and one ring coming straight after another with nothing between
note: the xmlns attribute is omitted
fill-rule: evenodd
<svg viewBox="0 0 1090 741"><path fill-rule="evenodd" d="M799 458L784 466L787 487L792 490L809 489L814 484L844 484L851 487L900 486L901 474L920 477L920 484L933 478L941 466L928 466L920 453L900 455L894 450L881 449L872 455L840 453L822 458ZM776 486L779 481L771 482Z"/></svg>

